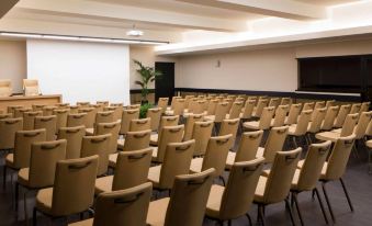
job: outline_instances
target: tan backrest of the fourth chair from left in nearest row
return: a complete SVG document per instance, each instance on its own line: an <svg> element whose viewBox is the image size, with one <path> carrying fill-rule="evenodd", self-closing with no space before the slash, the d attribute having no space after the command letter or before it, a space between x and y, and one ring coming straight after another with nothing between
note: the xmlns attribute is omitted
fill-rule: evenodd
<svg viewBox="0 0 372 226"><path fill-rule="evenodd" d="M277 152L263 192L264 204L278 203L286 199L301 151L302 148Z"/></svg>

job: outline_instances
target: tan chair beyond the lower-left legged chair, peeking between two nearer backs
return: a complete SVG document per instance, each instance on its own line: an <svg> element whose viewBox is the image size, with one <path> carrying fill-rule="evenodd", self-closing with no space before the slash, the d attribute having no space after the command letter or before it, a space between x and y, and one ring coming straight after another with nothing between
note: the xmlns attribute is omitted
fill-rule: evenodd
<svg viewBox="0 0 372 226"><path fill-rule="evenodd" d="M60 127L57 139L66 139L66 159L80 158L82 137L86 135L86 126Z"/></svg>

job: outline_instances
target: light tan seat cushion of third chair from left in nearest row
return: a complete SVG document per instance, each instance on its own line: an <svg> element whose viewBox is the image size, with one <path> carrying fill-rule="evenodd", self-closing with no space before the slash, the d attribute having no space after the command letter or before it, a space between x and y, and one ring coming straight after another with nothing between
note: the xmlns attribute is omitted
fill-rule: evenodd
<svg viewBox="0 0 372 226"><path fill-rule="evenodd" d="M212 185L210 196L206 203L205 214L212 218L219 218L219 208L225 188L222 185Z"/></svg>

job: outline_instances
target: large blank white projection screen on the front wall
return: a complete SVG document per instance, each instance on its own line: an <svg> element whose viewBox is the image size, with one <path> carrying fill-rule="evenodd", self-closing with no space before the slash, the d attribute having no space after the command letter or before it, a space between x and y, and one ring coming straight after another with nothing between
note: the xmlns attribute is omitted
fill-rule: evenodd
<svg viewBox="0 0 372 226"><path fill-rule="evenodd" d="M42 94L63 101L129 104L127 45L27 39L27 78L38 79Z"/></svg>

